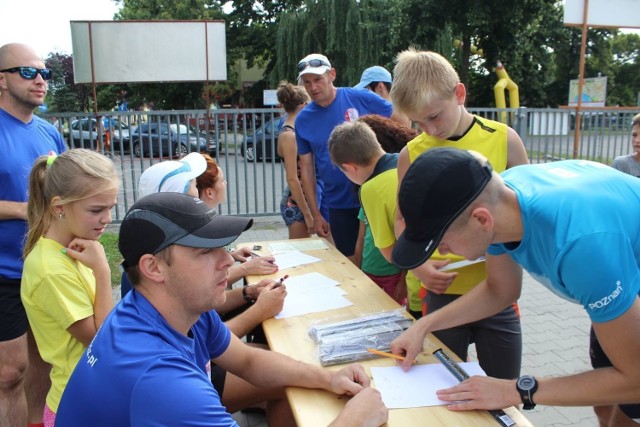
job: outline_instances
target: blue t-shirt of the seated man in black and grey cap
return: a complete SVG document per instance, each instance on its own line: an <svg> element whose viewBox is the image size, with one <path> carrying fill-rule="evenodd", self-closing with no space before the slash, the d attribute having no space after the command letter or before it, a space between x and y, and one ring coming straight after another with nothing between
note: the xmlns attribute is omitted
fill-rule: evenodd
<svg viewBox="0 0 640 427"><path fill-rule="evenodd" d="M207 373L230 340L215 311L187 337L132 290L80 358L56 426L237 426Z"/></svg>

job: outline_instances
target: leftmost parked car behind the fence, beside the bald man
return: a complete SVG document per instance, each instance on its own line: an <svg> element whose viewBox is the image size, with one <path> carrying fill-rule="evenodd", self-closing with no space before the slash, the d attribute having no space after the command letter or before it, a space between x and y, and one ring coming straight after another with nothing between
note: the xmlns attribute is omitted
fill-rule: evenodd
<svg viewBox="0 0 640 427"><path fill-rule="evenodd" d="M105 133L111 131L111 146L114 151L129 151L130 129L125 123L113 117L102 118L102 141L107 140ZM96 149L98 140L98 121L91 118L74 120L70 126L70 146L73 148Z"/></svg>

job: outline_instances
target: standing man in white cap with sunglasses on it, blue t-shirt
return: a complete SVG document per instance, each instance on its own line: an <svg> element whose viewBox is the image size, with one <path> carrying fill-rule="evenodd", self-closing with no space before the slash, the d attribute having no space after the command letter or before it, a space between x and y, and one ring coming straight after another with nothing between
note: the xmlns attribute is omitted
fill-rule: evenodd
<svg viewBox="0 0 640 427"><path fill-rule="evenodd" d="M327 141L333 129L365 114L392 115L391 103L373 92L333 85L336 70L326 56L313 53L298 63L298 81L312 99L296 117L300 176L315 232L333 238L336 248L353 260L358 238L360 202L353 184L331 163ZM392 118L394 118L393 116ZM317 188L322 189L318 195ZM329 218L318 203L329 208ZM331 228L329 228L331 227Z"/></svg>

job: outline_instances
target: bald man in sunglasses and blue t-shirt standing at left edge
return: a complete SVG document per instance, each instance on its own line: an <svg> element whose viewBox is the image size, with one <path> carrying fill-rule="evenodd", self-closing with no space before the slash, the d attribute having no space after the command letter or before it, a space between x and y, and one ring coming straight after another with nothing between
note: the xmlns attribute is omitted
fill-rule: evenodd
<svg viewBox="0 0 640 427"><path fill-rule="evenodd" d="M42 425L49 389L20 301L22 246L27 231L27 180L33 162L66 146L60 133L33 115L44 104L51 70L23 44L0 47L0 426ZM29 368L27 370L27 368ZM28 396L25 395L25 389ZM28 417L27 417L28 402Z"/></svg>

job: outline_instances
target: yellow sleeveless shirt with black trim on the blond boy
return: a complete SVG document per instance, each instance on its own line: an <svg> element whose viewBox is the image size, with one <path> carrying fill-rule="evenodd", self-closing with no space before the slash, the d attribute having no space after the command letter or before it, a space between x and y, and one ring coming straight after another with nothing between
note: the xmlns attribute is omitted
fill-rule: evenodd
<svg viewBox="0 0 640 427"><path fill-rule="evenodd" d="M493 170L500 173L507 168L507 129L507 125L504 123L474 116L473 123L469 130L455 140L438 139L423 132L407 144L409 160L413 163L418 155L432 148L451 147L461 150L474 150L489 159ZM441 255L436 251L431 259L449 259L451 263L454 263L464 258L452 254ZM463 267L455 271L459 273L458 277L456 277L453 284L447 289L446 294L462 295L487 276L484 262Z"/></svg>

